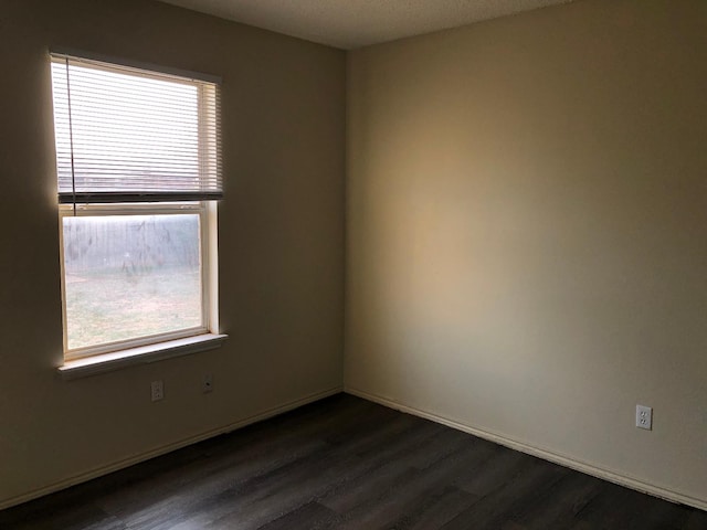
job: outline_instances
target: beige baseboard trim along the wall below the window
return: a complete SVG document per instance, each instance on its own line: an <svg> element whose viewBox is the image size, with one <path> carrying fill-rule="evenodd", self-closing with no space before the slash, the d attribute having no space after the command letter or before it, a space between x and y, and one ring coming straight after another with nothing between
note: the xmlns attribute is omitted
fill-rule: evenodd
<svg viewBox="0 0 707 530"><path fill-rule="evenodd" d="M308 403L314 403L315 401L323 400L324 398L328 398L330 395L338 394L344 391L342 386L335 386L333 389L328 389L321 392L316 392L314 394L309 394L299 400L287 402L283 405L275 406L273 409L268 409L266 411L260 412L252 416L245 417L234 423L230 423L228 425L223 425L218 428L213 428L211 431L207 431L204 433L198 434L196 436L190 436L188 438L180 439L179 442L175 442L168 445L163 445L152 451L148 451L146 453L140 453L139 455L131 456L129 458L125 458L123 460L115 462L107 466L96 467L89 471L82 473L80 475L73 476L65 480L60 480L59 483L51 484L40 489L35 489L29 491L23 495L19 495L17 497L11 497L7 500L0 500L0 510L4 510L7 508L11 508L12 506L21 505L22 502L28 502L30 500L36 499L39 497L43 497L45 495L54 494L62 489L70 488L71 486L75 486L81 483L85 483L92 480L94 478L102 477L104 475L108 475L113 471L117 471L120 469L125 469L126 467L130 467L135 464L139 464L140 462L149 460L150 458L155 458L157 456L166 455L167 453L171 453L172 451L181 449L182 447L187 447L188 445L197 444L199 442L203 442L204 439L212 438L214 436L219 436L221 434L226 434L236 428L245 427L246 425L251 425L253 423L262 422L263 420L267 420L273 416L277 416L278 414L283 414L285 412L298 409Z"/></svg>

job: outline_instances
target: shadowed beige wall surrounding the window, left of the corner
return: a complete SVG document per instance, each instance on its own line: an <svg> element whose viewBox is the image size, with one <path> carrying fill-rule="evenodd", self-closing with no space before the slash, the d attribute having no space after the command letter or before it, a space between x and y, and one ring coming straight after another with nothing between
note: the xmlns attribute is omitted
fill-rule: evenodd
<svg viewBox="0 0 707 530"><path fill-rule="evenodd" d="M0 506L340 388L344 52L147 0L1 4ZM53 45L222 76L221 349L71 382L55 373Z"/></svg>

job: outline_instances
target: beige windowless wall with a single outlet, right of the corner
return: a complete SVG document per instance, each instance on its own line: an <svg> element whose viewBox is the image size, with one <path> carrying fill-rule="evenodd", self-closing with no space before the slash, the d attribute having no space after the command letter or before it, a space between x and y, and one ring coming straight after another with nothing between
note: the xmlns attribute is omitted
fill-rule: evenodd
<svg viewBox="0 0 707 530"><path fill-rule="evenodd" d="M346 388L707 507L707 2L577 1L348 74Z"/></svg>

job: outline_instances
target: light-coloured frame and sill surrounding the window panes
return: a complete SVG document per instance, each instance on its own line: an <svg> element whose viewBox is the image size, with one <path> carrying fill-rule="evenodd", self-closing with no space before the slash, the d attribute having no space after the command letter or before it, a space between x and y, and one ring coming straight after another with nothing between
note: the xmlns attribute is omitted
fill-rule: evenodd
<svg viewBox="0 0 707 530"><path fill-rule="evenodd" d="M88 54L83 52L74 52L67 50L52 50L49 55L49 64L56 63L56 56L67 56L70 60L78 60L93 64L96 70L107 66L108 71L120 68L138 70L146 77L165 78L173 76L175 82L202 82L214 85L215 96L212 99L215 119L215 137L213 139L213 149L215 149L215 158L210 163L217 165L218 182L221 186L220 166L220 83L221 80L208 74L197 74L175 68L161 67L151 64L138 63L134 61L116 60L103 55ZM103 64L101 64L103 63ZM67 63L68 64L68 63ZM113 70L112 70L113 68ZM181 80L180 80L181 78ZM202 106L209 99L205 99L202 85L198 84L198 106L202 112ZM52 99L55 98L56 86L52 80ZM54 109L54 112L56 112ZM71 106L70 106L71 113ZM56 129L54 129L56 136ZM73 139L71 140L73 142ZM198 141L200 148L207 141L207 137L199 129ZM55 147L56 149L56 147ZM54 151L59 158L59 151ZM73 155L72 155L73 156ZM55 182L59 186L59 167L55 166ZM72 162L73 173L73 162ZM200 177L201 179L201 177ZM72 178L73 180L73 178ZM59 244L60 244L60 272L61 272L61 296L62 296L62 331L63 331L63 359L64 364L60 367L64 379L73 379L74 377L83 377L82 374L93 374L102 371L113 370L126 364L131 364L135 359L141 359L141 362L151 362L151 360L181 356L194 351L202 351L218 348L225 340L226 336L219 335L219 314L218 314L218 202L222 198L222 189L218 192L207 191L203 193L170 193L158 194L159 197L139 197L140 193L118 194L110 198L109 194L104 197L91 197L84 199L88 202L80 203L81 199L76 198L74 190L73 202L64 200L62 193L59 193ZM134 200L131 200L134 199ZM125 201L125 202L117 202ZM129 201L129 202L128 202ZM64 256L64 218L66 216L107 216L107 215L162 215L162 214L184 214L192 213L199 215L199 252L200 252L200 287L201 287L201 324L197 327L183 328L180 330L167 331L162 333L154 333L141 337L133 337L125 340L103 342L93 346L68 348L68 327L66 310L66 272Z"/></svg>

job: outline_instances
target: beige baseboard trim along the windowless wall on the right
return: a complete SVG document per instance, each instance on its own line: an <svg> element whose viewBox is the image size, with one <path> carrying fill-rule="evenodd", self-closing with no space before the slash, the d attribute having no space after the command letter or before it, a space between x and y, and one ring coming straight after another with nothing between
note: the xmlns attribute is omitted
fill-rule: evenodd
<svg viewBox="0 0 707 530"><path fill-rule="evenodd" d="M680 494L678 491L674 491L672 489L654 486L652 484L644 483L643 480L640 480L637 478L630 477L621 473L612 471L610 469L604 469L600 466L595 466L593 464L589 464L587 462L582 462L577 458L561 455L548 449L535 447L532 445L518 442L516 439L509 438L498 433L494 433L492 431L473 427L471 425L465 425L454 420L450 420L444 416L440 416L437 414L423 411L421 409L408 406L397 401L390 400L388 398L372 394L370 392L358 390L351 386L344 386L344 392L346 392L347 394L356 395L358 398L362 398L368 401L372 401L374 403L379 403L390 409L395 409L398 411L405 412L414 416L423 417L425 420L430 420L432 422L446 425L447 427L456 428L457 431L463 431L465 433L473 434L474 436L478 436L479 438L487 439L495 444L509 447L514 451L519 451L520 453L526 453L528 455L537 456L538 458L542 458L544 460L552 462L555 464L569 467L570 469L574 469L574 470L584 473L587 475L591 475L593 477L618 484L619 486L625 486L626 488L635 489L637 491L648 494L654 497L658 497L661 499L669 500L671 502L687 505L687 506L692 506L694 508L698 508L700 510L707 511L707 501L697 499L695 497L690 497L688 495Z"/></svg>

